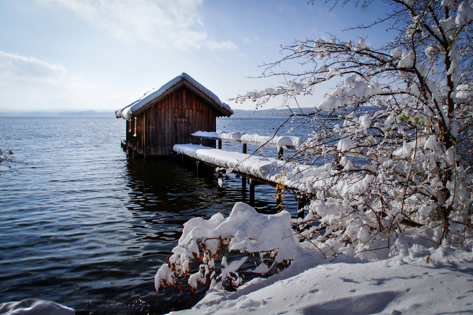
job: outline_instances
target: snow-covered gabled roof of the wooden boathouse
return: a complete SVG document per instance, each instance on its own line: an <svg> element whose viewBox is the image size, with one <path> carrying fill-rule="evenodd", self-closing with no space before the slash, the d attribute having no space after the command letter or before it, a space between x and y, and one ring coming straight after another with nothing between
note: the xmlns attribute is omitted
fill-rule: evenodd
<svg viewBox="0 0 473 315"><path fill-rule="evenodd" d="M157 99L161 95L165 94L167 90L169 90L172 86L175 84L179 83L182 80L188 81L190 84L192 84L195 88L200 90L202 93L207 95L211 100L213 100L218 106L221 108L225 108L227 111L229 111L231 114L233 114L233 110L225 103L220 101L220 99L212 93L210 90L208 90L206 87L204 87L202 84L199 82L195 81L189 74L182 72L180 75L172 79L171 81L167 82L165 85L159 87L159 88L154 88L145 94L143 96L131 103L128 106L125 106L122 109L116 110L115 111L115 116L117 118L122 117L125 120L130 120L131 117L133 116L133 113L138 112L141 108L144 108L149 102L151 102L154 99Z"/></svg>

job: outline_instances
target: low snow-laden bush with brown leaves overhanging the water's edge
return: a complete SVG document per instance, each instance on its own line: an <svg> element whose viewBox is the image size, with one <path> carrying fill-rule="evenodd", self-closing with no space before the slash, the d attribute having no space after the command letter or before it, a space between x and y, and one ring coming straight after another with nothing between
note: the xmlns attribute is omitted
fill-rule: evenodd
<svg viewBox="0 0 473 315"><path fill-rule="evenodd" d="M261 262L253 270L259 273L267 272L278 263L294 260L298 241L293 236L290 223L291 216L287 211L263 215L241 202L235 204L228 218L217 213L209 220L200 217L191 219L184 225L178 245L173 249L174 254L156 273L156 290L175 286L177 279L191 271L193 261L202 263L198 272L189 277L191 292L195 292L198 283L205 284L208 281L211 281L212 287L222 288L222 282L225 281L230 281L231 287L238 287L242 279L236 270L247 257L228 263L223 256L225 248L228 251L258 253L260 257L267 254L267 261L271 261L271 264ZM216 270L215 263L219 256L223 256L221 268ZM232 279L230 273L234 273L236 278Z"/></svg>

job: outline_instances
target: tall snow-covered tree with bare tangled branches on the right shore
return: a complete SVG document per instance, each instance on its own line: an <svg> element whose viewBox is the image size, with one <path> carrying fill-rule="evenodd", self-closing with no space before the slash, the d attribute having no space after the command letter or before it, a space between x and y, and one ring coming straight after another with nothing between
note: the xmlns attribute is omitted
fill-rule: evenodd
<svg viewBox="0 0 473 315"><path fill-rule="evenodd" d="M435 246L473 246L473 1L386 2L393 11L385 18L354 29L389 23L399 31L393 41L377 49L366 38L296 41L282 47L285 57L268 63L262 75L280 76L286 84L235 99L260 106L279 97L287 104L314 93L318 83L333 82L312 113L292 115L293 124L308 128L309 139L291 159L307 167L325 164L320 174L300 177L301 193L311 203L294 230L305 249L322 259L340 254L385 258L403 242L401 236L412 234L423 234ZM293 60L306 70L276 70ZM294 180L294 172L287 174L281 182ZM238 233L213 235L219 240L214 247L234 242ZM204 242L210 239L203 235ZM199 242L202 237L187 240L197 247ZM206 246L197 247L195 255L205 256ZM160 269L157 288L185 275L187 256L192 254L176 252L175 261ZM193 279L205 282L211 272Z"/></svg>

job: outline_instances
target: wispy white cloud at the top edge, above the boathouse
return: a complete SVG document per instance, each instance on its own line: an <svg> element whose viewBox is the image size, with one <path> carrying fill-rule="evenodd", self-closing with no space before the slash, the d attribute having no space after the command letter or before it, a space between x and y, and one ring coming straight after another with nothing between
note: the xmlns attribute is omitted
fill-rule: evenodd
<svg viewBox="0 0 473 315"><path fill-rule="evenodd" d="M39 0L73 10L93 27L126 41L139 39L163 49L236 49L209 39L197 14L202 0Z"/></svg>

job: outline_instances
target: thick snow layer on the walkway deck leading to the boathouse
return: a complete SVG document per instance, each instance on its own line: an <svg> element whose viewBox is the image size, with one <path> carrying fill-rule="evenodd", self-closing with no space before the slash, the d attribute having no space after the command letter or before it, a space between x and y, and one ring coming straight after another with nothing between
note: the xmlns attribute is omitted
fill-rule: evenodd
<svg viewBox="0 0 473 315"><path fill-rule="evenodd" d="M331 174L329 170L332 167L331 163L315 167L197 144L175 144L173 150L227 170L252 174L272 182L282 182L287 188L307 189L309 193L325 183L324 180Z"/></svg>

